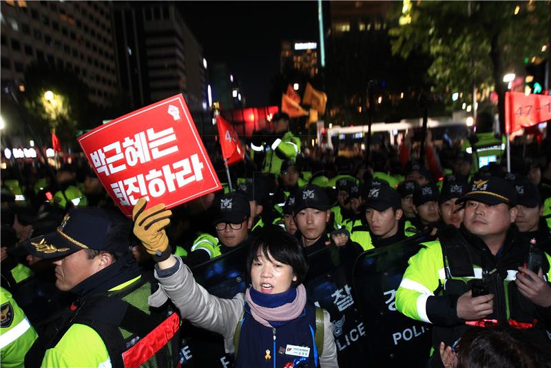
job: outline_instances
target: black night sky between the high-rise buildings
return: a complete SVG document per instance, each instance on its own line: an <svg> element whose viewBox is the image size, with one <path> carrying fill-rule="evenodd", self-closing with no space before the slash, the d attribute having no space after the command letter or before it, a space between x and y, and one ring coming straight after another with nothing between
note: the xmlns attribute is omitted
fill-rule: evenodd
<svg viewBox="0 0 551 368"><path fill-rule="evenodd" d="M317 1L179 2L209 65L224 62L247 105L266 106L282 40L319 42Z"/></svg>

